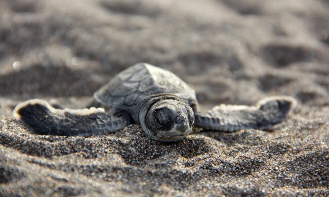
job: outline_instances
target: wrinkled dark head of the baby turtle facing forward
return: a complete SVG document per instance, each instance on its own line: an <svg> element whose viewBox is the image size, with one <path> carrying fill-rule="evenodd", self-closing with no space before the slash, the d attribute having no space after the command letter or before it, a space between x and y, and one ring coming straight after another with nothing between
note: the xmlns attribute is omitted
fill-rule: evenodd
<svg viewBox="0 0 329 197"><path fill-rule="evenodd" d="M178 141L192 131L192 108L177 100L158 100L140 116L147 135L158 141Z"/></svg>

